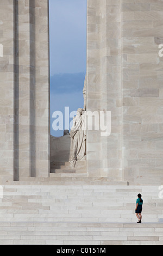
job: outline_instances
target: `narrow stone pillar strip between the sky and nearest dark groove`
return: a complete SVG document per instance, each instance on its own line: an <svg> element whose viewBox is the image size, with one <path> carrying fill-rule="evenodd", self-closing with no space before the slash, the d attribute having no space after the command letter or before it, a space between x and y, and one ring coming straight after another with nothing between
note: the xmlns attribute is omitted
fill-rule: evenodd
<svg viewBox="0 0 163 256"><path fill-rule="evenodd" d="M36 176L50 173L50 86L48 0L35 2L35 164Z"/></svg>

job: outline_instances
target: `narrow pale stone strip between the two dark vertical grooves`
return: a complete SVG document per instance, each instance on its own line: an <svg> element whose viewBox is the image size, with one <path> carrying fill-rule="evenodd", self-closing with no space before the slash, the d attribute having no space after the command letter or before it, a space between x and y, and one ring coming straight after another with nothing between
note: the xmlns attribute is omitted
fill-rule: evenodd
<svg viewBox="0 0 163 256"><path fill-rule="evenodd" d="M30 176L30 1L18 3L18 176ZM17 40L17 38L16 38Z"/></svg>

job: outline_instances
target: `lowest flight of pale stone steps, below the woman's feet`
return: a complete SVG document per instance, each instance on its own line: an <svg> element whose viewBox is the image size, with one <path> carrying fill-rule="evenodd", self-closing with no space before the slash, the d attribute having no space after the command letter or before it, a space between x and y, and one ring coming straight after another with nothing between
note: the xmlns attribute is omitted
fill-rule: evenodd
<svg viewBox="0 0 163 256"><path fill-rule="evenodd" d="M1 245L163 245L163 223L0 222Z"/></svg>

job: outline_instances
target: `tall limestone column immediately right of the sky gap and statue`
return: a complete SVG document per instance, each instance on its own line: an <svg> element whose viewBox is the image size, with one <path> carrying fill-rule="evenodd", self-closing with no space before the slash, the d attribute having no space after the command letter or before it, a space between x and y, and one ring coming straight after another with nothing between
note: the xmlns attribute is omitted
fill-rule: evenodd
<svg viewBox="0 0 163 256"><path fill-rule="evenodd" d="M87 111L105 117L110 111L111 134L87 131L87 172L117 181L123 178L121 55L121 1L88 0Z"/></svg>

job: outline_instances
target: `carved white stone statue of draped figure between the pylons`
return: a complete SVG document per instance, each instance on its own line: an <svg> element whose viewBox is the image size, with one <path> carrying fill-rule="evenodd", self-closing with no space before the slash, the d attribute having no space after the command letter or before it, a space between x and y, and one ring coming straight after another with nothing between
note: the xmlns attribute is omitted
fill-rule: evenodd
<svg viewBox="0 0 163 256"><path fill-rule="evenodd" d="M76 117L73 119L73 126L70 131L71 149L70 163L76 166L76 161L80 161L86 155L86 112L79 108Z"/></svg>

